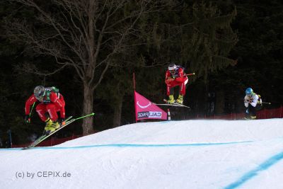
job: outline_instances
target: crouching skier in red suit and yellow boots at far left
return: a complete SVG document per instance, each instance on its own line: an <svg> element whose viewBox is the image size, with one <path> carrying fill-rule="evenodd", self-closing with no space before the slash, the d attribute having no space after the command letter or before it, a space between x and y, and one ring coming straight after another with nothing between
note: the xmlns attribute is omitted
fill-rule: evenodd
<svg viewBox="0 0 283 189"><path fill-rule="evenodd" d="M65 118L65 101L59 90L55 87L36 86L33 95L25 102L25 122L30 123L30 105L39 101L35 110L40 116L40 119L46 123L45 132L53 132L60 125L64 125ZM60 119L58 122L58 114Z"/></svg>

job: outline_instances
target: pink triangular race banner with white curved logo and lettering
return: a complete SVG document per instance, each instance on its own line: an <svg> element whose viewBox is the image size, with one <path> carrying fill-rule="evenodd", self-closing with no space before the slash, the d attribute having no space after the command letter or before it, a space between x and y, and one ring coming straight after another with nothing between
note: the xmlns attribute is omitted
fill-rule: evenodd
<svg viewBox="0 0 283 189"><path fill-rule="evenodd" d="M146 119L167 120L167 113L144 96L134 91L136 121Z"/></svg>

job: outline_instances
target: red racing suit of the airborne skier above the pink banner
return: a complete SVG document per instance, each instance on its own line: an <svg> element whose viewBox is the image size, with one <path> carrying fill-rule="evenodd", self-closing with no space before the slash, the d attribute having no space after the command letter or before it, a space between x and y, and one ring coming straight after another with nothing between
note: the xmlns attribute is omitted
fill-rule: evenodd
<svg viewBox="0 0 283 189"><path fill-rule="evenodd" d="M185 96L185 85L187 81L187 76L184 76L182 67L178 67L174 74L171 74L171 72L167 70L165 75L167 96L173 95L173 88L175 86L180 86L179 94Z"/></svg>

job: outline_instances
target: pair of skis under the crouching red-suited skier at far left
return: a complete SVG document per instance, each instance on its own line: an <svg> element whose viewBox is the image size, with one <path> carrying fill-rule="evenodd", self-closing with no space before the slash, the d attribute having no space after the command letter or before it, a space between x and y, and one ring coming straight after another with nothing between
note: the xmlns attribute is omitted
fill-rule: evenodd
<svg viewBox="0 0 283 189"><path fill-rule="evenodd" d="M55 132L58 132L59 130L62 130L62 128L66 127L67 125L71 124L72 122L76 121L76 120L80 120L83 118L86 118L88 116L92 116L94 115L94 113L91 113L89 115L85 115L82 116L80 118L73 118L73 116L69 116L69 118L67 118L66 120L64 120L65 124L64 125L60 125L60 127L57 130L54 130L54 132L50 132L47 134L42 134L41 137L39 137L38 139L35 140L35 142L33 142L32 144L28 145L28 147L24 147L23 149L30 149L33 148L35 146L37 146L37 144L40 144L40 142L44 141L45 139L47 139L48 137L50 137L52 134L54 134Z"/></svg>

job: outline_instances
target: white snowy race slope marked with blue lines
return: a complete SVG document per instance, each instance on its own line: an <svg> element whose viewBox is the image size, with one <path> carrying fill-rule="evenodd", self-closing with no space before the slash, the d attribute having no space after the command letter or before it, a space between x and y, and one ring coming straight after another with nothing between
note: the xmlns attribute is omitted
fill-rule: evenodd
<svg viewBox="0 0 283 189"><path fill-rule="evenodd" d="M283 119L140 122L0 150L0 188L283 188Z"/></svg>

